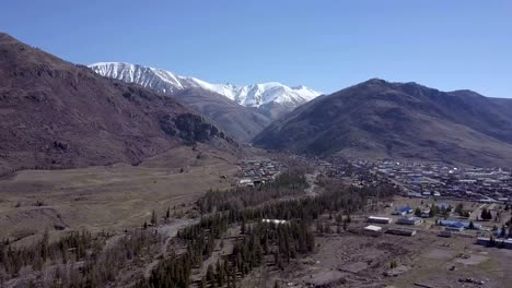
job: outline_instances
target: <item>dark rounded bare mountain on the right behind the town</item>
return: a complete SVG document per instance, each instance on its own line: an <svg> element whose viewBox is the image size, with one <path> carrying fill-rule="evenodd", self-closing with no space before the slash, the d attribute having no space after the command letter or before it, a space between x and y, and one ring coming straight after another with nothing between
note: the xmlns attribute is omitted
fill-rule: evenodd
<svg viewBox="0 0 512 288"><path fill-rule="evenodd" d="M511 103L370 80L299 107L254 143L313 155L510 166Z"/></svg>

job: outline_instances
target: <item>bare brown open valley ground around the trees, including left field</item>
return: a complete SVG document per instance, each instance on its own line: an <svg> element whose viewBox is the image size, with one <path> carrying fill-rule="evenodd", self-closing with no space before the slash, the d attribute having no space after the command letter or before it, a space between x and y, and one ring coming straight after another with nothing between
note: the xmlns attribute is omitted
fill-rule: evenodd
<svg viewBox="0 0 512 288"><path fill-rule="evenodd" d="M238 205L236 209L241 213L244 209L264 211L266 206L274 206L276 209L292 207L290 211L293 211L293 206L305 205L304 201L299 200L321 199L318 203L323 203L322 197L329 189L330 192L336 192L341 187L338 182L329 185L330 180L323 179L322 171L313 169L300 175L304 176L303 178L293 178L292 175L289 179L294 181L289 182L293 189L289 189L290 183L283 180L281 185L284 188L281 189L238 189L207 193L210 189L229 188L236 182L233 176L237 171L237 161L233 156L218 151L181 147L147 159L139 166L114 165L60 171L21 171L0 181L0 239L9 238L11 243L14 241L16 247L23 247L39 241L45 230L48 230L54 239L72 230L112 232L104 239L100 237L103 242L97 259L117 255L119 251L123 254L128 250L136 250L135 248L142 249L139 249L135 256L113 261L112 263L117 263L116 273L114 279L106 283L112 287L133 287L141 279L151 279L155 271L168 268L171 264L166 261L184 256L190 248L188 245L200 237L205 240L206 250L202 250L201 261L191 265L189 279L193 287L212 287L211 280L203 286L205 279L209 277L209 267L216 267L217 271L220 262L232 263L230 261L235 259L235 247L249 239L251 232L245 231L246 223L233 220L228 224L226 220L225 227L220 226L224 228L213 225L205 228L199 225L197 230L189 231L194 236L190 238L183 235L179 237L181 229L200 224L203 217L222 214L221 205L224 203L233 207ZM302 182L296 182L296 179L302 179ZM301 185L296 185L298 183ZM209 200L210 203L202 202L201 205L197 202L198 199ZM282 266L276 264L279 253L276 256L274 252L265 252L258 260L259 265L247 271L243 268L243 272L235 271L232 281L236 287L254 288L270 288L276 285L383 288L508 287L512 281L512 265L509 261L512 250L476 245L477 231L441 238L438 235L442 228L435 225L434 218L428 218L419 226L408 227L417 230L414 237L387 233L372 237L362 232L370 215L393 218L392 224L383 225L385 229L403 228L395 224L402 216L392 216L394 207L423 207L434 203L430 201L424 200L423 203L423 200L402 196L383 200L372 207L372 212L353 213L349 217L350 223L345 227L347 229L341 229L341 221L338 220L338 216L341 219L346 218L344 211L324 209L315 216L315 221L305 228L307 233L314 235L315 238L314 248L309 252L298 253ZM394 204L392 207L389 202ZM286 203L289 206L280 205ZM455 206L459 202L449 203ZM473 211L472 217L480 213L481 206L475 203L464 204ZM171 219L163 219L167 209ZM511 214L501 207L499 209L503 213L504 223ZM150 229L131 229L140 228L144 223L149 224L153 211L160 225ZM200 212L203 213L201 218L198 217ZM206 223L208 221L203 225ZM253 227L253 232L258 223L260 220L247 223ZM324 231L318 230L319 224ZM214 235L216 229L224 230ZM129 242L136 237L142 239L141 244ZM191 242L187 242L190 240ZM208 244L209 240L211 247ZM270 244L270 251L280 251L278 248L281 249L277 243ZM20 274L8 278L7 287L24 287L40 275L55 275L59 265L68 269L71 266L73 269L73 265L85 265L83 263L86 261L68 264L58 264L58 261L46 263L47 266L42 273L22 268ZM236 264L238 263L226 265L234 267L232 265ZM51 277L48 276L48 279L51 280ZM0 287L1 284L0 278ZM228 284L224 283L221 287L229 285L228 280Z"/></svg>

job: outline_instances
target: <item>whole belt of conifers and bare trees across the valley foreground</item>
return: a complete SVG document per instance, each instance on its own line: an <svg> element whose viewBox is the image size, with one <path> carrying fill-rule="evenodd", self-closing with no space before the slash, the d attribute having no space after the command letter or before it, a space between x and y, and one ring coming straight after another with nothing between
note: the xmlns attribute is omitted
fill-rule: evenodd
<svg viewBox="0 0 512 288"><path fill-rule="evenodd" d="M319 185L325 192L306 197L303 196L306 185L303 173L289 171L260 188L208 192L197 202L202 212L199 223L179 230L175 239L184 249L161 260L151 269L149 278L138 274L136 287L189 287L193 285L193 271L202 267L228 229L233 227L237 227L240 232L233 240L232 253L205 267L205 275L194 284L200 287L237 287L245 275L264 262L276 269L283 269L291 260L314 251L315 233L330 230L321 223L322 215L336 215L338 229L341 223L345 228L349 215L371 209L375 199L383 200L396 192L395 187L386 184L356 188L323 179ZM280 201L272 201L277 199ZM156 218L154 213L152 218ZM263 219L279 219L281 224L264 223ZM116 284L121 269L130 265L147 265L141 263L155 255L162 243L162 236L150 227L126 231L119 238L107 233L70 232L55 242L50 242L48 232L45 232L39 241L20 248L2 241L0 284L18 277L20 273L30 275L31 271L35 272L31 276L32 281L39 286L102 287ZM39 275L39 278L34 275Z"/></svg>

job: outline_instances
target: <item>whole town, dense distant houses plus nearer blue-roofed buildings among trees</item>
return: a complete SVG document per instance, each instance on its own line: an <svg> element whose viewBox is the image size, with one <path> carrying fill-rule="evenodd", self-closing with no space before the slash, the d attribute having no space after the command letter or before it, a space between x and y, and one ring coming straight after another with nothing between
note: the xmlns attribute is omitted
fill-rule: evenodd
<svg viewBox="0 0 512 288"><path fill-rule="evenodd" d="M512 230L505 228L511 218L504 216L512 208L510 170L336 157L319 160L318 167L352 185L391 182L400 188L399 201L386 203L384 215L368 217L371 225L364 228L366 232L414 236L429 227L440 237L464 233L477 238L480 244L512 249ZM392 227L383 229L379 224Z"/></svg>

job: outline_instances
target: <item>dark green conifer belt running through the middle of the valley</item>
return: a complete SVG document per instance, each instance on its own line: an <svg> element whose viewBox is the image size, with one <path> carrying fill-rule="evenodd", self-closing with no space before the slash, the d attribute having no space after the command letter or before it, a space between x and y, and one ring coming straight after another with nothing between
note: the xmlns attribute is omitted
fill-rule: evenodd
<svg viewBox="0 0 512 288"><path fill-rule="evenodd" d="M305 183L305 180L302 183ZM292 183L288 182L284 187L289 184ZM342 212L349 215L364 211L368 208L369 199L385 199L396 192L396 188L392 185L340 188L333 182L322 184L326 192L316 197L270 202L257 207L226 206L220 209L223 212L203 216L197 225L189 226L178 233L178 238L186 242L186 252L162 261L153 269L151 277L141 279L137 286L189 287L193 268L200 267L202 262L210 257L216 240L221 239L230 226L240 225L242 235L235 242L232 255L219 261L216 268L208 267L207 275L198 284L200 287L236 287L236 280L252 268L261 265L265 255L274 255L276 267L283 268L291 259L313 251L314 233L311 226L322 214ZM271 190L263 189L259 193L265 191ZM249 199L253 191L237 190L233 195ZM208 201L213 202L213 199ZM208 205L206 211L209 211ZM284 219L287 223L263 224L263 219Z"/></svg>

